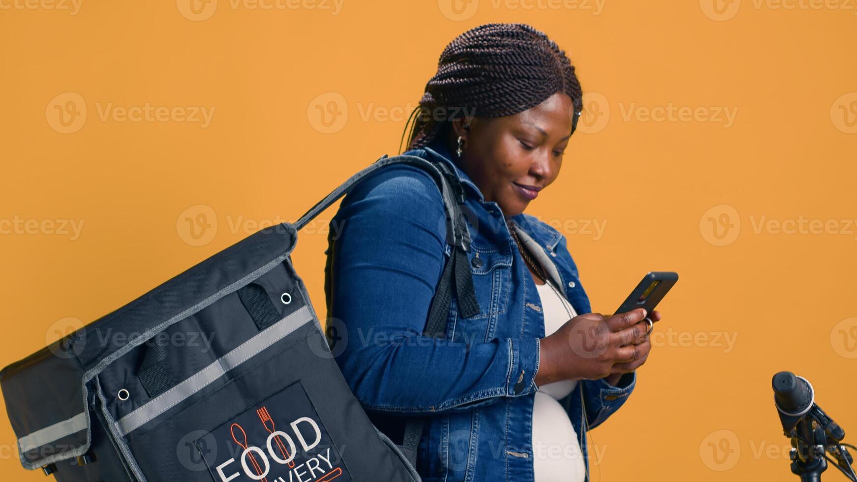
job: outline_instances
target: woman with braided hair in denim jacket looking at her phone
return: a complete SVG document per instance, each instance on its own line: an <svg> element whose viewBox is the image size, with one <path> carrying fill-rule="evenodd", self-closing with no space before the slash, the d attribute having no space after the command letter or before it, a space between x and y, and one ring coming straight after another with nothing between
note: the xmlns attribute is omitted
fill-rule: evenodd
<svg viewBox="0 0 857 482"><path fill-rule="evenodd" d="M560 173L581 95L565 52L524 24L473 28L441 54L405 153L446 163L467 194L480 309L465 318L453 299L446 338L423 336L451 253L433 178L387 166L333 218L328 316L347 329L337 361L393 441L424 420L427 482L586 479L586 431L626 401L648 357L659 313L591 313L565 237L524 214Z"/></svg>

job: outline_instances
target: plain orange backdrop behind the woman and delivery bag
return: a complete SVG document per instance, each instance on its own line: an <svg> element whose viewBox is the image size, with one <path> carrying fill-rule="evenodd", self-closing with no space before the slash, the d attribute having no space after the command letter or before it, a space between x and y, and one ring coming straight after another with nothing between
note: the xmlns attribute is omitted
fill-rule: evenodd
<svg viewBox="0 0 857 482"><path fill-rule="evenodd" d="M646 271L681 277L637 390L591 433L593 479L793 478L770 390L781 370L809 378L857 431L857 2L496 1L345 0L337 11L219 0L194 13L184 0L72 11L0 0L2 364L258 223L295 220L397 152L450 40L521 21L569 52L591 92L583 134L527 212L566 234L596 311ZM80 125L60 122L69 99ZM114 110L146 104L176 114L131 122ZM694 115L659 116L669 106ZM185 120L191 107L213 109L210 122ZM292 256L321 313L334 212ZM762 217L827 228L789 234ZM31 234L7 229L15 218L83 224L77 236L43 224ZM45 479L21 468L5 418L0 479Z"/></svg>

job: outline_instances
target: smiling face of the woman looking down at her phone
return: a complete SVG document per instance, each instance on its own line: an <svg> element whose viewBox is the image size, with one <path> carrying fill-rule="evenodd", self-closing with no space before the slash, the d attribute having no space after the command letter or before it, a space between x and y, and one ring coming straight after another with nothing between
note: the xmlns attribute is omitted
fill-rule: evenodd
<svg viewBox="0 0 857 482"><path fill-rule="evenodd" d="M572 98L554 93L542 104L513 116L475 117L470 127L452 122L452 151L463 138L458 166L486 201L506 216L520 214L560 174L562 154L572 133Z"/></svg>

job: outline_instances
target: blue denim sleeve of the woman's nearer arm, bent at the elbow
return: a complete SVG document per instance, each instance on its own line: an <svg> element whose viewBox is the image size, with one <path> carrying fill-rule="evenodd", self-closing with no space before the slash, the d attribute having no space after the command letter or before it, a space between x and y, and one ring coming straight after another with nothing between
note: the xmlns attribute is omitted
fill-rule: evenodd
<svg viewBox="0 0 857 482"><path fill-rule="evenodd" d="M445 219L434 179L402 164L354 187L331 221L328 323L345 330L334 354L367 410L455 412L535 390L538 338L423 336L446 261Z"/></svg>

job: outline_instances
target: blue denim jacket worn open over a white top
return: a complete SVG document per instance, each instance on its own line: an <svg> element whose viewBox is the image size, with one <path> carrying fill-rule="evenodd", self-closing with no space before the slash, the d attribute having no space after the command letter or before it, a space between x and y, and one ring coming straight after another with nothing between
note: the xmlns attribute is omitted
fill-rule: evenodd
<svg viewBox="0 0 857 482"><path fill-rule="evenodd" d="M436 140L406 154L446 162L464 184L481 312L462 318L453 300L446 340L422 335L452 249L433 178L394 164L346 194L331 221L327 315L341 336L333 354L370 420L394 442L401 443L407 417L427 417L417 456L424 481L533 481L534 377L538 339L545 336L536 284L500 206L484 200L446 146ZM554 262L578 314L591 312L565 236L529 214L512 220ZM560 400L578 440L582 405L589 428L596 427L620 408L635 382L636 373L617 387L583 380ZM588 467L585 433L583 440Z"/></svg>

